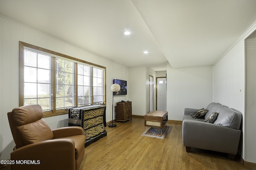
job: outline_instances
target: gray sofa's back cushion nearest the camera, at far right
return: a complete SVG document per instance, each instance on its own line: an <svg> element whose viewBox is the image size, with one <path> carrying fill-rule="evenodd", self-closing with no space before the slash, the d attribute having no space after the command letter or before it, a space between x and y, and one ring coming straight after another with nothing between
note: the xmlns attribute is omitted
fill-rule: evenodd
<svg viewBox="0 0 256 170"><path fill-rule="evenodd" d="M220 109L219 115L214 124L240 129L242 114L234 109L224 107Z"/></svg>

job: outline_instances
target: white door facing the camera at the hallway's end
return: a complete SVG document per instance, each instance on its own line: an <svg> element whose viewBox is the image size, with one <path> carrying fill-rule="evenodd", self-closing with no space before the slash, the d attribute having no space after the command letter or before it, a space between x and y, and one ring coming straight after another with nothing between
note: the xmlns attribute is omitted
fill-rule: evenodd
<svg viewBox="0 0 256 170"><path fill-rule="evenodd" d="M166 111L166 77L156 78L156 99L157 99L157 110Z"/></svg>

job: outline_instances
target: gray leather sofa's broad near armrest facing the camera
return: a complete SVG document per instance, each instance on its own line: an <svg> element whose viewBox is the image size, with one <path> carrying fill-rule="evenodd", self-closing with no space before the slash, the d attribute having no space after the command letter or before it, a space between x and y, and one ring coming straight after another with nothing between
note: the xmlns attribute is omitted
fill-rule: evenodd
<svg viewBox="0 0 256 170"><path fill-rule="evenodd" d="M186 147L236 154L241 131L201 121L184 120L182 139Z"/></svg>

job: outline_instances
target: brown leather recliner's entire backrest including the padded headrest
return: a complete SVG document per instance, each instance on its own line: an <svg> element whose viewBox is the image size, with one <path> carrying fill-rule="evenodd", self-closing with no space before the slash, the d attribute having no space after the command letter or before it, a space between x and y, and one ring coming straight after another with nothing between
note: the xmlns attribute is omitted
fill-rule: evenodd
<svg viewBox="0 0 256 170"><path fill-rule="evenodd" d="M38 104L21 106L8 113L8 120L16 149L31 143L53 139L53 133Z"/></svg>

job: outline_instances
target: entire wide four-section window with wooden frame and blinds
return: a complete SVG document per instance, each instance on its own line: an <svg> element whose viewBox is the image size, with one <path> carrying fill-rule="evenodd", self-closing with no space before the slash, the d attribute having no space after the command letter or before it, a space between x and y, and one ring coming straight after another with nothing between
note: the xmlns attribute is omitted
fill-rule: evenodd
<svg viewBox="0 0 256 170"><path fill-rule="evenodd" d="M20 106L39 104L44 117L106 104L105 76L103 66L20 42Z"/></svg>

